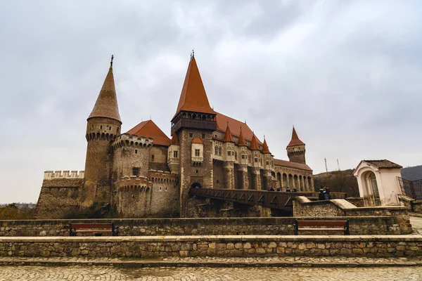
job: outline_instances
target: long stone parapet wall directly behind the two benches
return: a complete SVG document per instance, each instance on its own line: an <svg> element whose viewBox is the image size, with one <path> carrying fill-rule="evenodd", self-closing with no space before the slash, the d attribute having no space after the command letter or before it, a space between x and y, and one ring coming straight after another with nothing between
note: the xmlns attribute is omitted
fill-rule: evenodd
<svg viewBox="0 0 422 281"><path fill-rule="evenodd" d="M252 213L250 209L250 213ZM351 235L399 235L392 216L300 218L350 221ZM0 236L67 236L69 223L108 223L106 219L0 221ZM133 218L113 219L120 236L141 235L293 235L295 218ZM411 229L410 229L411 231ZM306 233L304 233L306 234ZM319 232L318 234L329 234Z"/></svg>

